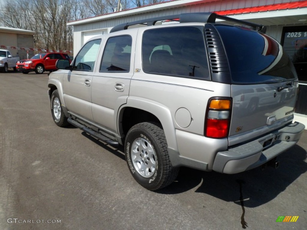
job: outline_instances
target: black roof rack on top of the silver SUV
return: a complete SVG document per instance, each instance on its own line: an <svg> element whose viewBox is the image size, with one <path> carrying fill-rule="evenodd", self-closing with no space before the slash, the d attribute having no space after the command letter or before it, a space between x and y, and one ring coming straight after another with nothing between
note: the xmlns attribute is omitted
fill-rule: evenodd
<svg viewBox="0 0 307 230"><path fill-rule="evenodd" d="M201 23L215 23L216 18L226 20L226 21L233 21L233 22L238 22L240 24L248 25L251 26L253 29L258 30L260 32L265 33L266 27L263 25L259 25L256 23L248 22L248 21L243 21L223 15L219 15L216 13L211 13L211 12L203 12L203 13L181 13L177 15L171 15L171 16L161 16L161 17L154 17L154 18L148 18L148 19L143 19L139 21L133 21L133 22L127 22L123 24L116 25L113 27L110 31L116 32L124 29L128 29L129 26L131 25L155 25L157 21L164 21L164 20L170 20L170 21L179 21L180 23L186 23L186 22L201 22Z"/></svg>

